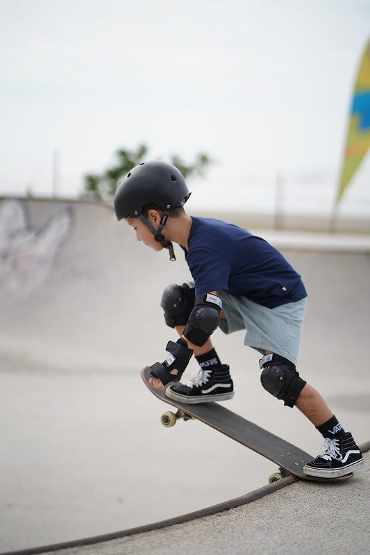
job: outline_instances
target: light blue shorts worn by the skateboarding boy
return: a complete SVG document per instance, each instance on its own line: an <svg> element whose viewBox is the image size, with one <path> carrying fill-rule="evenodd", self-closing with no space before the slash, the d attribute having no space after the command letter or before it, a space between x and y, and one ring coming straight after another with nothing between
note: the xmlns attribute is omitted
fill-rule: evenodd
<svg viewBox="0 0 370 555"><path fill-rule="evenodd" d="M224 333L245 329L244 345L262 354L271 351L296 364L307 297L276 308L267 308L226 291L218 291L217 295L227 318L227 321L221 320L219 324Z"/></svg>

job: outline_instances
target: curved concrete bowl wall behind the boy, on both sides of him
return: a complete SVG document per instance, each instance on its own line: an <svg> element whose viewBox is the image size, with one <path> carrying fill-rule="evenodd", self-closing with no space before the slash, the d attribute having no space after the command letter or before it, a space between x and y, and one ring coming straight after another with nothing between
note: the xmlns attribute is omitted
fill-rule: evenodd
<svg viewBox="0 0 370 555"><path fill-rule="evenodd" d="M236 223L249 227L239 219ZM303 274L310 298L306 328L316 328L322 338L321 325L328 324L319 348L332 346L338 318L339 329L350 334L355 329L347 342L356 348L366 342L369 236L252 231L283 249ZM121 370L151 360L153 343L141 341L140 351L135 345L148 333L155 342L168 338L158 306L162 290L191 279L183 252L176 254L172 263L167 251L158 254L137 244L110 206L3 199L1 354L14 361L21 354L22 365L37 369L72 372Z"/></svg>

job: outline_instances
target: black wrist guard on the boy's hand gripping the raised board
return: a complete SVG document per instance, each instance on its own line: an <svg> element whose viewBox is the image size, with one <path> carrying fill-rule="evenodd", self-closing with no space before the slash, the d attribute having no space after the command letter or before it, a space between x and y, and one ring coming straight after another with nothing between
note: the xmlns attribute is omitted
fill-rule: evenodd
<svg viewBox="0 0 370 555"><path fill-rule="evenodd" d="M166 351L169 352L166 360L162 364L153 364L149 374L152 378L159 378L164 386L167 386L170 381L178 381L181 378L193 354L192 349L187 347L187 342L183 338L178 339L176 343L169 341ZM170 374L171 370L175 368L178 370L177 376Z"/></svg>

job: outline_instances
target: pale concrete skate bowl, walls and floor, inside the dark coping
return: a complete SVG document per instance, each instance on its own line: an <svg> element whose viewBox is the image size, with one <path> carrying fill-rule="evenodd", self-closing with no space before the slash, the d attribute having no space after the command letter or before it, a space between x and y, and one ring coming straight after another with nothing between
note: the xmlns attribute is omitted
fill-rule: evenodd
<svg viewBox="0 0 370 555"><path fill-rule="evenodd" d="M3 203L0 550L127 529L264 486L274 465L199 422L162 428L163 406L140 381L175 338L159 304L165 285L190 279L180 251L176 263L149 251L103 206ZM334 249L328 235L309 249L307 236L269 232L308 289L299 370L361 443L370 249L367 236L346 236L341 251L338 237ZM321 437L262 390L243 333L214 338L235 381L228 408L316 455Z"/></svg>

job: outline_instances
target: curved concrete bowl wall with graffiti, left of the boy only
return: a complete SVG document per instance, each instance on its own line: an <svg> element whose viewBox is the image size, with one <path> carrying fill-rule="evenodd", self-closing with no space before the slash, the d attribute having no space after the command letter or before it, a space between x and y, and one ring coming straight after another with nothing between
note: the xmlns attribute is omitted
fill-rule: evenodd
<svg viewBox="0 0 370 555"><path fill-rule="evenodd" d="M72 372L153 356L148 342L140 356L128 345L162 324L155 284L186 279L183 256L174 264L135 245L112 208L96 204L3 200L0 231L3 355Z"/></svg>

